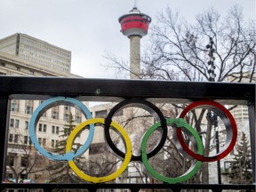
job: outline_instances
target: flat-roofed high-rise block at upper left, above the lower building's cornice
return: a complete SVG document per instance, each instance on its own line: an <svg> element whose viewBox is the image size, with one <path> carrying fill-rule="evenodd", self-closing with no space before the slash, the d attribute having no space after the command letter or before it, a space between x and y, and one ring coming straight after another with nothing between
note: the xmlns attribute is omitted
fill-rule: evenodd
<svg viewBox="0 0 256 192"><path fill-rule="evenodd" d="M70 72L71 52L26 34L0 39L0 52L15 55L52 70Z"/></svg>

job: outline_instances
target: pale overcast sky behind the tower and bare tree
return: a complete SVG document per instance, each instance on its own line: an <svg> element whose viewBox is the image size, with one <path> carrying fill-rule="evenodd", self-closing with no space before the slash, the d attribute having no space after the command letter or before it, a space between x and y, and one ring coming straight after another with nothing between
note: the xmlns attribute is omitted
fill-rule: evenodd
<svg viewBox="0 0 256 192"><path fill-rule="evenodd" d="M111 52L129 59L129 39L120 32L118 18L129 12L133 0L0 0L0 38L14 33L34 36L72 52L71 72L84 77L113 78L113 68L102 67ZM156 24L157 12L170 6L191 20L209 7L221 14L240 4L255 19L255 0L138 0L141 12ZM148 31L150 33L150 29ZM141 40L148 41L145 36Z"/></svg>

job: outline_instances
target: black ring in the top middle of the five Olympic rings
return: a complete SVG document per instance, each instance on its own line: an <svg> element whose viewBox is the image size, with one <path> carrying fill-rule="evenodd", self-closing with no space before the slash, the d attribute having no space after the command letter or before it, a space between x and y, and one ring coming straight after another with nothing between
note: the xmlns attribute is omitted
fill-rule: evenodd
<svg viewBox="0 0 256 192"><path fill-rule="evenodd" d="M111 140L109 129L110 124L112 122L112 117L118 112L119 110L123 108L143 108L144 110L147 110L152 116L156 116L157 120L160 120L161 127L163 131L161 132L161 140L156 145L156 148L154 148L152 151L150 151L147 155L148 158L155 156L164 146L165 140L167 138L167 124L166 119L163 115L163 113L160 111L159 108L157 108L153 103L149 102L148 100L139 100L139 99L132 99L132 100L123 100L119 102L114 108L111 108L111 110L108 113L108 116L105 118L105 140L108 143L108 147L112 149L114 153L116 153L117 156L121 156L124 158L125 154L118 148L116 148L116 145ZM142 161L141 154L140 156L134 156L132 155L132 161Z"/></svg>

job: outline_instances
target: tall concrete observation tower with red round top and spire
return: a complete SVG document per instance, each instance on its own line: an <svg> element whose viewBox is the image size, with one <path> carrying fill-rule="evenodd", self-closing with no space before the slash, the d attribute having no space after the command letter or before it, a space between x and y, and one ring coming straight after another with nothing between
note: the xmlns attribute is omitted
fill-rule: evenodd
<svg viewBox="0 0 256 192"><path fill-rule="evenodd" d="M119 18L121 31L130 39L130 78L139 79L140 76L140 38L148 34L151 18L141 13L136 1L132 11Z"/></svg>

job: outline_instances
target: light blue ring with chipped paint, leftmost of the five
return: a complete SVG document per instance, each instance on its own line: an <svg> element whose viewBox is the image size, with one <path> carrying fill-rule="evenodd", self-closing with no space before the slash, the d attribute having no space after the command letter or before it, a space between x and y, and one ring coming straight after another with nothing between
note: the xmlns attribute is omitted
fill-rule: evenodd
<svg viewBox="0 0 256 192"><path fill-rule="evenodd" d="M54 97L49 100L44 100L44 102L41 105L39 105L38 108L36 108L36 110L31 116L30 123L29 123L29 137L32 143L34 144L35 148L37 149L37 151L41 153L43 156L46 156L56 161L63 161L63 160L69 161L75 158L76 156L81 156L84 153L84 151L90 147L93 136L94 136L94 125L90 124L87 140L84 142L84 145L81 148L79 148L75 153L68 152L67 154L58 155L58 154L52 154L51 152L45 150L44 148L41 147L41 145L38 143L36 139L36 124L38 123L39 118L44 114L44 112L47 109L60 104L66 104L68 106L78 108L82 111L82 113L87 119L92 118L92 114L90 110L86 108L80 100L76 100L73 98L66 98L66 97Z"/></svg>

